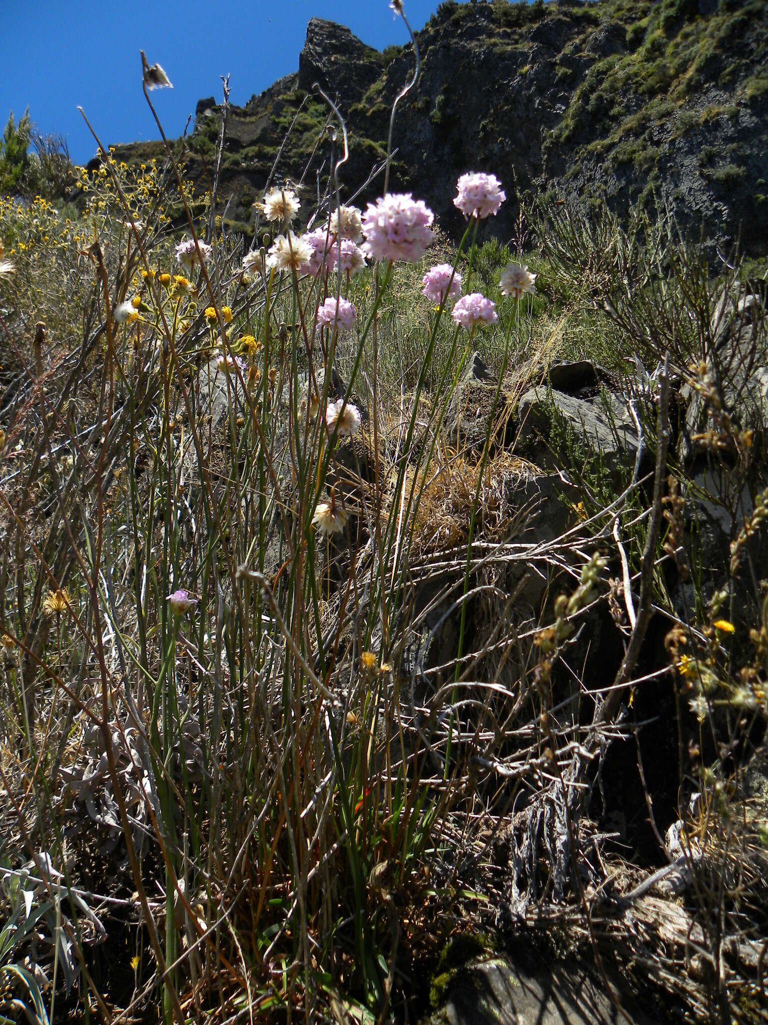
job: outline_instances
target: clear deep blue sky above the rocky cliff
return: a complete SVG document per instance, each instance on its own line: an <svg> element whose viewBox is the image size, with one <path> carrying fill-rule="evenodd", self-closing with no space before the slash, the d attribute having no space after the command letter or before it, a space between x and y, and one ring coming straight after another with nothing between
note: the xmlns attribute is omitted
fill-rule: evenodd
<svg viewBox="0 0 768 1025"><path fill-rule="evenodd" d="M421 29L438 0L404 0ZM139 50L159 61L173 90L155 93L169 135L183 131L203 96L221 95L230 73L232 102L243 104L298 69L310 17L349 26L379 49L408 39L388 0L0 0L0 119L30 108L44 132L67 137L84 163L96 147L83 107L108 145L157 137L140 87Z"/></svg>

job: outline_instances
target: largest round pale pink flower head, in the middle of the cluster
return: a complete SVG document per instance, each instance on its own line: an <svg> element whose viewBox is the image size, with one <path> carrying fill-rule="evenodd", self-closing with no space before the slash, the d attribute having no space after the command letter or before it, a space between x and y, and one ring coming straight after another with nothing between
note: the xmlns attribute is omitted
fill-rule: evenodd
<svg viewBox="0 0 768 1025"><path fill-rule="evenodd" d="M368 204L362 217L362 249L372 259L404 259L418 263L432 241L432 211L411 193L392 195Z"/></svg>

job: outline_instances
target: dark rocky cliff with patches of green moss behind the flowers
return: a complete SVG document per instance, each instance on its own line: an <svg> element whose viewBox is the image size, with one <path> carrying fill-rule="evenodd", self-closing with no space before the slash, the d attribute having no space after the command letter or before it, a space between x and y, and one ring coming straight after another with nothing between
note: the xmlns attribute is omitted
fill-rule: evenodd
<svg viewBox="0 0 768 1025"><path fill-rule="evenodd" d="M421 72L398 108L392 187L413 190L455 234L457 176L487 170L508 202L489 230L510 236L529 194L669 206L714 253L768 250L768 4L765 0L551 0L441 3L418 36ZM312 18L297 74L229 112L219 187L230 227L276 163L311 193L330 167L328 108L347 120L342 180L364 182L384 154L410 45L383 53ZM281 144L290 131L287 145ZM220 108L198 106L189 173L208 186ZM121 148L144 157L146 146ZM279 155L280 154L280 155ZM319 177L318 177L319 176ZM362 199L381 183L374 182ZM228 206L227 206L228 202Z"/></svg>

